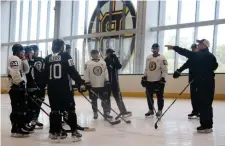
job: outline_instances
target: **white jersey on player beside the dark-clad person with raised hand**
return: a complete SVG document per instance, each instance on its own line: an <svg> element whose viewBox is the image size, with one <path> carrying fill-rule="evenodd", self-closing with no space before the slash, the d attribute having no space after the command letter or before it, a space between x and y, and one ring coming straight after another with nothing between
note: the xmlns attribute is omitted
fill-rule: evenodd
<svg viewBox="0 0 225 146"><path fill-rule="evenodd" d="M92 87L104 87L105 81L108 81L108 70L104 60L98 62L89 60L85 64L84 80L90 82Z"/></svg>

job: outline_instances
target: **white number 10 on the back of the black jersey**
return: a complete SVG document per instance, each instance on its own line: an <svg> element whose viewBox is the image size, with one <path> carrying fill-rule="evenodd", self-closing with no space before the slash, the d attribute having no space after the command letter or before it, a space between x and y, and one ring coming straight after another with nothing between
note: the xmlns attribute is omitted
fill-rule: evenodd
<svg viewBox="0 0 225 146"><path fill-rule="evenodd" d="M50 76L49 79L60 79L62 77L62 67L61 64L51 64L50 65Z"/></svg>

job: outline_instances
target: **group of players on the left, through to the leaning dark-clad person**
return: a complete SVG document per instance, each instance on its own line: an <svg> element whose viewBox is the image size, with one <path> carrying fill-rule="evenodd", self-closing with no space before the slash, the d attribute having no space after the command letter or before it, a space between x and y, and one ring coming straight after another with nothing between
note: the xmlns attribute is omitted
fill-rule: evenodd
<svg viewBox="0 0 225 146"><path fill-rule="evenodd" d="M42 109L41 104L44 102L47 87L51 108L49 138L67 137L67 133L62 128L62 122L65 122L70 126L74 141L80 140L82 135L78 130L83 130L84 127L77 124L72 80L75 81L80 93L89 90L94 119L98 118L98 98L102 100L104 118L113 118L110 116L111 91L120 114L123 117L131 116L132 113L126 110L120 93L117 70L122 66L113 54L114 51L107 50L106 61L99 58L97 50L91 51L92 59L86 62L84 79L82 79L70 56L70 45L66 45L66 50L64 46L63 40L55 39L52 43L52 54L45 59L38 57L39 50L36 45L24 47L15 44L12 47L13 56L8 60L8 74L11 82L9 95L12 106L10 120L13 137L29 136L34 132L35 127L43 127L43 124L38 122L38 115Z"/></svg>

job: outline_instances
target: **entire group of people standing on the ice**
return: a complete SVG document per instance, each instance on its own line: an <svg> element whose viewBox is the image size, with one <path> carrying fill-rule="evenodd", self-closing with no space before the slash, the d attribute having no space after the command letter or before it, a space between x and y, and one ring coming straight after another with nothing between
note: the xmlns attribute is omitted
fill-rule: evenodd
<svg viewBox="0 0 225 146"><path fill-rule="evenodd" d="M55 39L52 42L52 54L45 59L38 57L39 48L36 45L22 46L15 44L12 47L13 55L8 60L8 73L11 82L9 91L12 112L11 134L13 137L28 136L36 128L42 128L38 121L41 104L44 102L45 90L51 112L49 114L49 138L59 139L67 137L62 128L62 122L70 127L74 141L80 140L82 135L78 130L84 129L77 124L75 112L74 89L72 80L80 93L89 91L93 118L98 118L97 99L100 98L105 119L112 119L110 95L115 98L122 117L132 115L127 111L119 88L118 70L122 65L114 50L107 49L105 59L100 58L98 50L91 51L91 59L85 63L84 78L77 72L73 59L70 56L71 46L64 41ZM191 101L193 111L189 118L200 117L199 132L212 131L212 102L215 90L214 70L218 67L215 57L209 53L209 42L199 40L198 45L191 46L192 51L178 46L166 46L186 56L188 61L174 72L173 77L178 78L181 72L189 69L189 82L191 82ZM152 55L146 59L146 67L141 84L146 88L149 111L145 116L156 113L162 116L164 107L164 88L167 75L167 60L159 54L159 45L152 45ZM25 53L24 53L25 51ZM202 63L204 62L204 63ZM154 107L153 94L157 96L158 111ZM62 121L63 116L63 121Z"/></svg>

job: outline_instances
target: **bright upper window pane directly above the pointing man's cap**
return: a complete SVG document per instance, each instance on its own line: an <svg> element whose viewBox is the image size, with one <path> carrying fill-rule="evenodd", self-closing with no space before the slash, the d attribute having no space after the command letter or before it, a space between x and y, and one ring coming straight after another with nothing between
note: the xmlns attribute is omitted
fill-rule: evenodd
<svg viewBox="0 0 225 146"><path fill-rule="evenodd" d="M199 9L199 21L213 20L215 15L215 0L201 0Z"/></svg>

